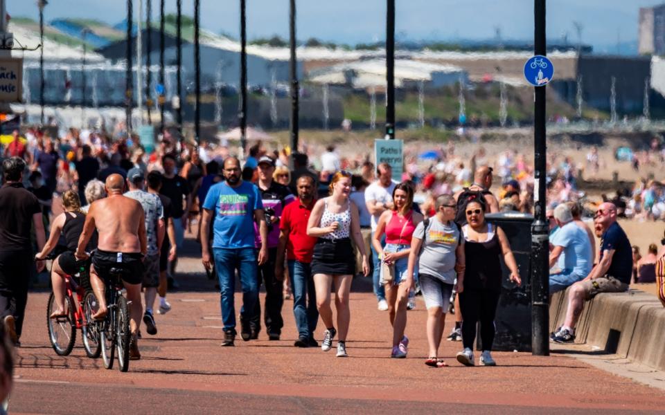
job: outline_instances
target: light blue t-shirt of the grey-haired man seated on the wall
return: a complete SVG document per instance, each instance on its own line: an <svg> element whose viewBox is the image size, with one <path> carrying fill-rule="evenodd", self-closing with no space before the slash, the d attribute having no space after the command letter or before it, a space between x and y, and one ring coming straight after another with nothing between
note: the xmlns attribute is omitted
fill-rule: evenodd
<svg viewBox="0 0 665 415"><path fill-rule="evenodd" d="M551 243L553 246L563 247L563 252L557 261L560 270L572 271L583 277L589 275L593 264L591 242L587 232L574 222L569 222L553 234Z"/></svg>

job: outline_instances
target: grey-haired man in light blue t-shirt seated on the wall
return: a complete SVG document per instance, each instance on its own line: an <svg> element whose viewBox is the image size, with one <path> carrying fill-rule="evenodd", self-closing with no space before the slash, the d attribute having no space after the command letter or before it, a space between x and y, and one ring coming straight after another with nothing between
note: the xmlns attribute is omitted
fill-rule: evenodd
<svg viewBox="0 0 665 415"><path fill-rule="evenodd" d="M549 254L549 267L556 268L549 275L550 295L584 279L593 265L587 232L573 221L569 206L558 205L553 216L558 230L550 239L553 249Z"/></svg>

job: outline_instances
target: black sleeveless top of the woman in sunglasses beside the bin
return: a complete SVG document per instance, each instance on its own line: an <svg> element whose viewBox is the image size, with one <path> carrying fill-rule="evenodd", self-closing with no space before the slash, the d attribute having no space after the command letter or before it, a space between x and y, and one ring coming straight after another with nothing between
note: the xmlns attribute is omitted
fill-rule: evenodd
<svg viewBox="0 0 665 415"><path fill-rule="evenodd" d="M488 232L493 230L493 225L488 225ZM466 236L466 226L463 227ZM499 236L494 228L494 233L489 241L475 242L464 241L464 254L466 257L466 269L464 271L464 289L501 291L502 268L501 268L501 245Z"/></svg>

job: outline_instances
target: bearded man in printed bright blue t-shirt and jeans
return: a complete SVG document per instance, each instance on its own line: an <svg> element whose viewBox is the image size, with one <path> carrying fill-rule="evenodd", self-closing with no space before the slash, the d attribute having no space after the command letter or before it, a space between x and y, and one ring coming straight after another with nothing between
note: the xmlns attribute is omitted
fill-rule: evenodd
<svg viewBox="0 0 665 415"><path fill-rule="evenodd" d="M224 160L226 181L213 185L203 203L201 221L201 246L203 265L210 269L210 224L213 223L213 254L215 268L220 279L224 342L233 346L236 340L236 308L233 295L236 291L236 269L242 284L242 308L240 325L242 340L249 340L249 322L254 316L258 301L256 280L257 262L263 265L268 257L268 228L263 213L263 203L258 187L242 181L240 161L235 157ZM254 221L258 223L261 246L254 246Z"/></svg>

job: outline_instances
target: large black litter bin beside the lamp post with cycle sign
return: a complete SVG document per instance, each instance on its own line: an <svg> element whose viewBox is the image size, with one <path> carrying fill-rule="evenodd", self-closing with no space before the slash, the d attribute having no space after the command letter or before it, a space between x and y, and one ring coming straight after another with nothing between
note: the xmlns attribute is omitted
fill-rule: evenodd
<svg viewBox="0 0 665 415"><path fill-rule="evenodd" d="M513 284L503 257L502 287L495 326L493 350L531 351L531 223L533 216L518 212L493 213L486 216L493 225L506 233L511 243L517 268L520 270L522 285ZM477 346L481 350L480 336Z"/></svg>

